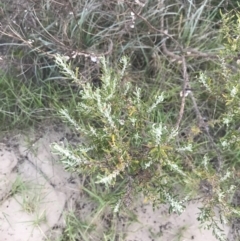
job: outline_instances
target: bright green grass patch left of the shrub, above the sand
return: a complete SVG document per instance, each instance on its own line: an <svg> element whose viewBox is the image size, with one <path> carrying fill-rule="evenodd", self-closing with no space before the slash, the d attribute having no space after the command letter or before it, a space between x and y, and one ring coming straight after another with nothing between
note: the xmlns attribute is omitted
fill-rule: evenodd
<svg viewBox="0 0 240 241"><path fill-rule="evenodd" d="M55 107L68 102L69 111L76 105L72 87L66 84L62 88L58 83L35 83L24 81L1 73L0 77L0 119L1 130L26 128L34 123L56 117ZM54 108L53 108L54 107Z"/></svg>

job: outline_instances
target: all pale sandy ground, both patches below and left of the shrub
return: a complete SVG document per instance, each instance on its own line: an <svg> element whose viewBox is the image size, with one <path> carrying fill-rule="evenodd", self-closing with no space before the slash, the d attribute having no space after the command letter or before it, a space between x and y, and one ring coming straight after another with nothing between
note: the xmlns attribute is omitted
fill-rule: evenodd
<svg viewBox="0 0 240 241"><path fill-rule="evenodd" d="M91 212L94 205L86 202L82 178L66 172L50 150L53 142L76 138L56 124L1 138L0 241L55 241L66 226L67 211L78 212L83 219ZM211 231L199 229L200 205L191 203L177 216L169 215L167 206L153 211L139 200L133 208L137 222L121 221L119 232L126 234L126 241L215 241ZM229 228L223 228L228 235ZM99 237L92 240L104 240Z"/></svg>

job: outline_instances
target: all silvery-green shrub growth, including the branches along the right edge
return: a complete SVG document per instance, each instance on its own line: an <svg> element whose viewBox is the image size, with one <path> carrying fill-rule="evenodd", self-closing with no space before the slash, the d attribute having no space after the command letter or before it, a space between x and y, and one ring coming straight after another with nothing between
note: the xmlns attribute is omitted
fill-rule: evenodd
<svg viewBox="0 0 240 241"><path fill-rule="evenodd" d="M229 23L231 18L223 16L226 46L219 52L220 70L215 75L201 72L198 76L206 99L215 102L215 108L209 110L205 141L195 138L204 133L199 128L191 129L192 137L181 137L181 129L175 128L177 119L168 118L164 109L166 91L143 95L141 88L126 81L127 57L114 69L100 58L101 85L96 88L81 81L67 58L56 55L63 75L81 86L77 115L70 116L65 108L59 113L83 141L75 147L54 143L53 149L71 172L87 173L96 183L113 188L124 182L114 211L129 204L139 192L155 205L169 204L169 210L177 213L187 201L198 198L203 204L198 220L204 228L212 228L216 238L225 240L217 219L227 223L240 215L233 205L240 167L239 71L229 66L229 56L236 56L240 46L238 19Z"/></svg>

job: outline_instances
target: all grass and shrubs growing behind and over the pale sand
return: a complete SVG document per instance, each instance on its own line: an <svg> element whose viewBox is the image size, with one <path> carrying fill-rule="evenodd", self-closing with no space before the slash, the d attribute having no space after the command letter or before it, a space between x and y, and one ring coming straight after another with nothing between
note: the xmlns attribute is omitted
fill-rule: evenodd
<svg viewBox="0 0 240 241"><path fill-rule="evenodd" d="M14 17L0 5L1 129L60 118L84 142L53 150L121 190L113 212L138 193L177 213L198 199L225 240L216 219L240 215L237 1L165 2L39 1Z"/></svg>

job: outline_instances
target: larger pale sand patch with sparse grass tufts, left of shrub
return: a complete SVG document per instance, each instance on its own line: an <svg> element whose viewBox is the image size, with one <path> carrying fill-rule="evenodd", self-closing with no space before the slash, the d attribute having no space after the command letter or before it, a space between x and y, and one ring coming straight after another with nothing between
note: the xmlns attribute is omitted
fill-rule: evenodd
<svg viewBox="0 0 240 241"><path fill-rule="evenodd" d="M45 240L53 228L64 228L64 211L79 196L80 179L64 171L50 150L67 131L43 129L5 139L2 145L1 240Z"/></svg>

